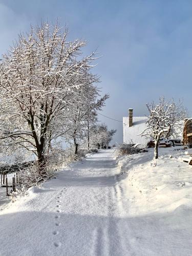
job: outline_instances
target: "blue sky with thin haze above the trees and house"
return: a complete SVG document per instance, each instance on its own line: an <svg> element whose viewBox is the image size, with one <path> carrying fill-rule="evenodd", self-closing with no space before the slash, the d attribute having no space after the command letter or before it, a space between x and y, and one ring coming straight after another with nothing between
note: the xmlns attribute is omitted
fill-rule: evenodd
<svg viewBox="0 0 192 256"><path fill-rule="evenodd" d="M97 49L102 58L94 72L102 93L109 93L102 114L117 120L133 108L147 114L145 103L159 96L183 99L192 116L192 2L174 1L0 1L0 54L19 32L41 20L69 27L69 38L88 41L84 55ZM122 123L99 116L117 129Z"/></svg>

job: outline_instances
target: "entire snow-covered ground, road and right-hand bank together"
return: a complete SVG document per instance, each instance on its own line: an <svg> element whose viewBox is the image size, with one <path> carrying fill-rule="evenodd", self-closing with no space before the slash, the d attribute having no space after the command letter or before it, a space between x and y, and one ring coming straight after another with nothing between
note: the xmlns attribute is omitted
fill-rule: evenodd
<svg viewBox="0 0 192 256"><path fill-rule="evenodd" d="M0 213L0 255L192 255L192 168L174 149L101 151L30 188Z"/></svg>

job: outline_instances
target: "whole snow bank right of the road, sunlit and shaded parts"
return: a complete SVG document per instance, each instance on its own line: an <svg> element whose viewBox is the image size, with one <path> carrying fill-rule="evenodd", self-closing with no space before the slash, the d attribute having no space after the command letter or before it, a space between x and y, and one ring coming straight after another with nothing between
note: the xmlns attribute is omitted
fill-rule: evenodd
<svg viewBox="0 0 192 256"><path fill-rule="evenodd" d="M157 161L153 149L118 159L136 255L191 255L192 168L175 149L160 148Z"/></svg>

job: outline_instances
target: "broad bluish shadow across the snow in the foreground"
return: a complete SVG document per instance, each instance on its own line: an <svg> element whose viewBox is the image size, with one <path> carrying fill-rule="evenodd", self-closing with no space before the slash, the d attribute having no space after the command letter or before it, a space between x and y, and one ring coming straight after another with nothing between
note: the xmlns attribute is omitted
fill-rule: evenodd
<svg viewBox="0 0 192 256"><path fill-rule="evenodd" d="M191 209L130 218L13 212L0 217L0 254L191 255L191 217Z"/></svg>

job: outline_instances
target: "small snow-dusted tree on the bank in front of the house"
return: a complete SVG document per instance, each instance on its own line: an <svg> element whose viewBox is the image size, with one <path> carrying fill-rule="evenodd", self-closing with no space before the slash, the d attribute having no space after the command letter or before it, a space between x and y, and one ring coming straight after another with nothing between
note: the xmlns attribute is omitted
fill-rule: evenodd
<svg viewBox="0 0 192 256"><path fill-rule="evenodd" d="M186 117L186 110L183 103L176 103L174 99L165 100L160 97L159 103L146 104L150 113L146 121L147 128L141 134L155 140L154 159L158 159L158 144L162 137L177 134L183 125L182 121Z"/></svg>

